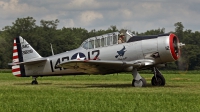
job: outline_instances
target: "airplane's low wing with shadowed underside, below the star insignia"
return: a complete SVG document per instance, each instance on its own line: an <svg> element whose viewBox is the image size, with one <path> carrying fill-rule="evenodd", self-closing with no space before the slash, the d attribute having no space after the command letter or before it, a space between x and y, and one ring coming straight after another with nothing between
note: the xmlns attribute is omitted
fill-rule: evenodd
<svg viewBox="0 0 200 112"><path fill-rule="evenodd" d="M129 67L139 68L153 65L154 61L150 59L135 61L105 61L105 60L71 60L60 63L58 67L66 69L76 69L77 71L89 74L107 74L124 71Z"/></svg>

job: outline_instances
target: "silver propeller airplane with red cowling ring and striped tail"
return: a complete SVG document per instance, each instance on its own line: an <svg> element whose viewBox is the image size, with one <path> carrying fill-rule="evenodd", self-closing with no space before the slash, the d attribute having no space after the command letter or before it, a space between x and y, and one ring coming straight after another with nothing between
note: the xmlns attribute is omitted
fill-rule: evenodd
<svg viewBox="0 0 200 112"><path fill-rule="evenodd" d="M14 39L12 73L18 77L132 72L132 86L144 87L146 80L139 70L152 69L153 86L164 86L165 78L157 69L180 57L179 42L173 33L136 36L130 31L113 32L85 40L79 48L42 57L21 36Z"/></svg>

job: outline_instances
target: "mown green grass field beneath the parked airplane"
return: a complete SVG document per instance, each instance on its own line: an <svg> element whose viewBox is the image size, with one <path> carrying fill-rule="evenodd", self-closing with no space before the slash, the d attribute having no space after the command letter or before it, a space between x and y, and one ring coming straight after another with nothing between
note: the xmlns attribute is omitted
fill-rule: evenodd
<svg viewBox="0 0 200 112"><path fill-rule="evenodd" d="M165 74L166 85L131 86L130 74L18 78L0 74L0 112L197 112L200 74Z"/></svg>

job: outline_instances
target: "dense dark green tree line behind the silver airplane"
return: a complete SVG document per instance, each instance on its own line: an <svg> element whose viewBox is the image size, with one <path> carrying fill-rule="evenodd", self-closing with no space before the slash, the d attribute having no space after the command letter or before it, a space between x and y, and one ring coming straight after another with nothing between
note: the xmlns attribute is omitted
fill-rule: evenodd
<svg viewBox="0 0 200 112"><path fill-rule="evenodd" d="M13 39L22 36L29 44L43 57L52 55L50 43L53 45L54 53L69 51L78 48L81 43L90 37L122 31L116 26L107 29L91 30L85 28L58 29L59 20L41 20L40 25L36 25L33 17L17 18L11 26L5 26L0 31L0 68L10 68L8 63L12 62ZM165 32L165 28L147 30L143 33L132 31L135 35L158 35L163 33L175 33L179 40L186 44L181 50L179 61L167 64L164 69L187 69L200 70L200 32L190 29L184 30L181 22L174 24L175 30Z"/></svg>

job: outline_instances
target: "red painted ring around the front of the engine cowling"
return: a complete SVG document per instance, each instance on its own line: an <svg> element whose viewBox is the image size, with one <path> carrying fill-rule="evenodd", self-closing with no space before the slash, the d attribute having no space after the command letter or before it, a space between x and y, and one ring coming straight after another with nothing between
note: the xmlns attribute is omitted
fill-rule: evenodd
<svg viewBox="0 0 200 112"><path fill-rule="evenodd" d="M177 39L177 41L178 41L178 43L179 43L179 40L178 40L178 38L176 37L176 35L174 35L174 34L170 34L169 35L169 47L170 47L170 51L171 51L171 54L172 54L172 57L175 59L175 60L177 60L178 58L179 58L179 53L180 53L180 50L178 51L178 56L176 55L176 53L175 53L175 49L174 49L174 45L173 45L173 39L174 38L176 38Z"/></svg>

